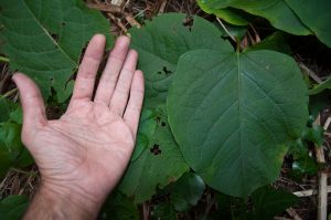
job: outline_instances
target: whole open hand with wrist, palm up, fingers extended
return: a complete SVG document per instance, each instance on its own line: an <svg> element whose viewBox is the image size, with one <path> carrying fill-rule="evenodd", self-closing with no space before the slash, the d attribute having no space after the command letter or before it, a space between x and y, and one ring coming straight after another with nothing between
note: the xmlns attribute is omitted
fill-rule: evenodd
<svg viewBox="0 0 331 220"><path fill-rule="evenodd" d="M22 142L41 174L41 186L24 220L96 219L131 157L143 101L143 75L130 39L118 38L95 90L106 39L90 40L66 113L47 121L38 86L12 77L23 106Z"/></svg>

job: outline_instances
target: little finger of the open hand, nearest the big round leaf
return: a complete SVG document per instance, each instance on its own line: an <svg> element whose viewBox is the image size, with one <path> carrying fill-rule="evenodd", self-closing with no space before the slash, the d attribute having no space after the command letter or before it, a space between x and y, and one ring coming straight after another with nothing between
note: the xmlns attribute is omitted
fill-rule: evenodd
<svg viewBox="0 0 331 220"><path fill-rule="evenodd" d="M139 125L140 112L143 102L143 74L141 71L136 71L131 84L130 98L124 115L124 121L129 125L134 134L137 134Z"/></svg>

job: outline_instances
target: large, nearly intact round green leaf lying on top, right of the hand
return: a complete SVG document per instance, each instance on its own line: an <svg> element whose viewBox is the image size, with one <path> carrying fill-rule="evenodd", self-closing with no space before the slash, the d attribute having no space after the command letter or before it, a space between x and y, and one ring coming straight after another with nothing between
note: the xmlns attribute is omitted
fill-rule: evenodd
<svg viewBox="0 0 331 220"><path fill-rule="evenodd" d="M211 187L247 197L274 181L308 118L296 62L273 51L181 56L168 114L186 163Z"/></svg>

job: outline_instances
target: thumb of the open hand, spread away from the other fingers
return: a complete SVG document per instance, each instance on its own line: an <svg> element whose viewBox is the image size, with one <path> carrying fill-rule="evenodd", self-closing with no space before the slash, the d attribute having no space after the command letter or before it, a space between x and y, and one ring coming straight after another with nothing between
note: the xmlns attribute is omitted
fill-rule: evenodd
<svg viewBox="0 0 331 220"><path fill-rule="evenodd" d="M23 107L23 127L29 132L46 124L45 106L40 90L35 83L22 73L12 76L20 91Z"/></svg>

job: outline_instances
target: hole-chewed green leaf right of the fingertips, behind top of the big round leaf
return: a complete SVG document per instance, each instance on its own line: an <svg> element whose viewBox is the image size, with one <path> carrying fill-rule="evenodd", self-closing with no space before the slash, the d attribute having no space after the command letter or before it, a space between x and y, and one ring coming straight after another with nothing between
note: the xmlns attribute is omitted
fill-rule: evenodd
<svg viewBox="0 0 331 220"><path fill-rule="evenodd" d="M164 104L169 84L178 59L195 49L223 49L233 51L221 39L222 32L209 21L193 17L186 24L185 14L166 13L146 22L142 29L131 29L132 48L139 52L138 67L146 80L145 106ZM188 20L190 21L190 20Z"/></svg>

